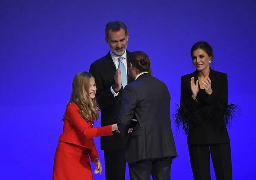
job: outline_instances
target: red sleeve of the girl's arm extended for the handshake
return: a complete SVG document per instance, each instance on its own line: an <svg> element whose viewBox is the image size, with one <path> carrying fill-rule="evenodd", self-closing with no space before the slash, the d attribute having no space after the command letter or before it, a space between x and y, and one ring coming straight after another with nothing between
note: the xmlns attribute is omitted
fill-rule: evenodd
<svg viewBox="0 0 256 180"><path fill-rule="evenodd" d="M68 105L65 118L81 132L86 138L112 135L111 125L93 128L78 112L78 106L74 103Z"/></svg>

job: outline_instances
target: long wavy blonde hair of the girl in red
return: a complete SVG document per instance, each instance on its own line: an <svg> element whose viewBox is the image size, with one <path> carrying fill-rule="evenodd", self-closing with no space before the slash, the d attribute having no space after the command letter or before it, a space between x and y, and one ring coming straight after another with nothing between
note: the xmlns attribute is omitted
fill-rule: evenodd
<svg viewBox="0 0 256 180"><path fill-rule="evenodd" d="M77 73L72 83L71 97L67 106L74 102L79 108L79 114L87 121L93 122L99 118L99 106L96 98L89 96L90 78L94 78L89 72Z"/></svg>

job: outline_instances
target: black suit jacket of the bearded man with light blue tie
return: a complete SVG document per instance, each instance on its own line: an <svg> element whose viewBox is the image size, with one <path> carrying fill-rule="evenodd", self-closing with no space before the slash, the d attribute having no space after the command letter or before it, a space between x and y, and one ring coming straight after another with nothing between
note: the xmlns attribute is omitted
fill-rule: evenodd
<svg viewBox="0 0 256 180"><path fill-rule="evenodd" d="M126 51L127 57L130 52ZM127 69L126 69L127 70ZM111 58L110 51L104 57L96 60L90 66L89 72L95 77L96 99L101 110L101 126L117 123L120 110L122 108L121 97L123 87L118 96L114 97L110 87L115 84L114 74L116 67ZM130 79L128 78L128 83ZM127 143L127 138L118 132L113 132L112 136L101 137L102 150L122 150Z"/></svg>

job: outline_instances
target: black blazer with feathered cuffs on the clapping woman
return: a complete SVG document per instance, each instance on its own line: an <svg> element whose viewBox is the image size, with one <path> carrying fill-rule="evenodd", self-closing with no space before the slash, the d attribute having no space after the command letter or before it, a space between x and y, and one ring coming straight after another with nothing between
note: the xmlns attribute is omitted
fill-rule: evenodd
<svg viewBox="0 0 256 180"><path fill-rule="evenodd" d="M230 142L222 113L223 107L227 107L228 103L227 74L210 69L209 78L213 93L208 96L204 89L199 88L197 102L191 97L192 76L196 82L197 71L181 78L180 108L183 121L186 120L186 125L189 126L188 145Z"/></svg>

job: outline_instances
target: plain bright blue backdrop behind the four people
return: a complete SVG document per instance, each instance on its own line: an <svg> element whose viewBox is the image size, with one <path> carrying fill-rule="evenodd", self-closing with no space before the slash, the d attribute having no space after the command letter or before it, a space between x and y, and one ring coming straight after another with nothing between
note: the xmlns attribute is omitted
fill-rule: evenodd
<svg viewBox="0 0 256 180"><path fill-rule="evenodd" d="M255 9L255 0L1 0L0 179L52 178L73 77L107 54L105 24L114 20L128 27L127 49L151 57L154 76L170 90L171 114L181 76L194 71L191 46L210 43L213 69L228 74L229 102L243 114L229 129L233 177L255 179ZM172 179L191 180L186 137L173 120L172 128L179 156ZM215 179L212 165L211 172ZM105 179L105 170L94 178Z"/></svg>

